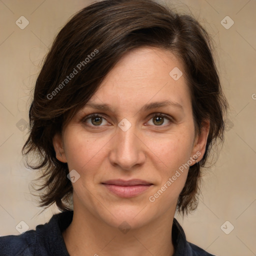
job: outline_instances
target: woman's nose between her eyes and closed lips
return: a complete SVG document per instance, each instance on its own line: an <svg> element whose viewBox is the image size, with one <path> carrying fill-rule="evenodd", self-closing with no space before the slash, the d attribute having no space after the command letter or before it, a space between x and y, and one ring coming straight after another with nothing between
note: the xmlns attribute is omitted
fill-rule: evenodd
<svg viewBox="0 0 256 256"><path fill-rule="evenodd" d="M123 170L131 170L145 162L145 145L138 136L135 125L126 131L117 127L116 134L111 141L109 161Z"/></svg>

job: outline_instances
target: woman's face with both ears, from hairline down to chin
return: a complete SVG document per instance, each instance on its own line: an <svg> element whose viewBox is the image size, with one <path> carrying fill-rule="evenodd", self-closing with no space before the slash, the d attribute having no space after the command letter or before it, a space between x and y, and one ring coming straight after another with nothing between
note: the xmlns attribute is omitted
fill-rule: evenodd
<svg viewBox="0 0 256 256"><path fill-rule="evenodd" d="M74 211L134 228L174 214L187 166L202 158L208 134L207 127L195 134L182 70L167 50L127 53L90 106L55 135L56 157L72 170Z"/></svg>

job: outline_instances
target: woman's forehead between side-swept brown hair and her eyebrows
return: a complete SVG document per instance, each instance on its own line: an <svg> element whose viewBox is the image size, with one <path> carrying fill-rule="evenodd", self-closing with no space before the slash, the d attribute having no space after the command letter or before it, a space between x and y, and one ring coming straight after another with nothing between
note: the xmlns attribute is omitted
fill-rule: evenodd
<svg viewBox="0 0 256 256"><path fill-rule="evenodd" d="M106 103L120 109L171 100L189 107L190 95L182 71L181 61L169 50L133 49L116 63L88 103Z"/></svg>

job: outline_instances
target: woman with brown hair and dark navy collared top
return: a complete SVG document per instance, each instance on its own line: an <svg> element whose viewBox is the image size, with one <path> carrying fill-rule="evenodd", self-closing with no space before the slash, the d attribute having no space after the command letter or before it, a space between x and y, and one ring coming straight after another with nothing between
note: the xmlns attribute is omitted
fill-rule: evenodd
<svg viewBox="0 0 256 256"><path fill-rule="evenodd" d="M206 31L152 0L104 0L56 36L36 80L25 155L40 206L1 255L212 255L174 218L197 206L227 108Z"/></svg>

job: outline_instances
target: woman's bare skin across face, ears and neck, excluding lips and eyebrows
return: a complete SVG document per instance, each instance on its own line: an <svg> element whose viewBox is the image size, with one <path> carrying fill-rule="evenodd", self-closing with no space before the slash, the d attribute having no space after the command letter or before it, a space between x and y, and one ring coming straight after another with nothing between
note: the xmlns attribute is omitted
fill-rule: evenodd
<svg viewBox="0 0 256 256"><path fill-rule="evenodd" d="M188 168L154 202L148 198L190 157L200 154L197 161L202 158L209 130L206 120L200 135L195 133L188 86L183 75L178 80L169 75L174 67L183 70L181 62L167 50L132 50L89 100L107 103L112 111L85 106L61 135L54 136L57 159L80 175L72 183L73 220L62 233L71 256L173 254L171 226ZM177 102L182 108L140 111L146 103L163 100ZM85 121L91 113L100 113L103 118ZM172 121L163 118L157 122L152 113L166 114ZM131 123L126 131L118 126L123 118ZM123 198L101 184L117 178L139 178L153 185L137 196ZM123 221L130 227L126 233L118 228Z"/></svg>

